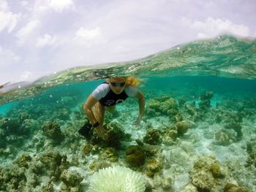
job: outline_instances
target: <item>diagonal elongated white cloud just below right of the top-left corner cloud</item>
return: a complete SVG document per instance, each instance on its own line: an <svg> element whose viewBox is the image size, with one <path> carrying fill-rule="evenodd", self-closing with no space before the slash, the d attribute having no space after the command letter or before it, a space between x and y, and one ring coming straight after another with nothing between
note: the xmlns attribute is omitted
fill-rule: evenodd
<svg viewBox="0 0 256 192"><path fill-rule="evenodd" d="M21 28L18 33L17 37L19 39L18 44L22 45L26 40L31 37L31 34L33 34L34 30L36 28L39 28L40 22L39 20L32 20L29 23L26 24L23 28Z"/></svg>

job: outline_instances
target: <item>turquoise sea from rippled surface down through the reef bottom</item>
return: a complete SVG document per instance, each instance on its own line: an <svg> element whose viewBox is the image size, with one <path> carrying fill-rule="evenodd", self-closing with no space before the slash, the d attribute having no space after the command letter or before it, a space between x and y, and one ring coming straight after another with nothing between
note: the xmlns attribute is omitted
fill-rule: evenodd
<svg viewBox="0 0 256 192"><path fill-rule="evenodd" d="M223 36L137 61L76 67L2 91L0 191L87 191L95 167L116 164L143 174L153 191L223 191L227 183L256 191L255 46L255 40ZM107 130L124 131L118 137L113 134L113 140L120 140L118 147L111 139L102 143L81 137L78 129L86 119L80 106L91 91L105 77L128 75L143 80L138 88L146 110L140 126L131 125L138 103L129 98L105 118ZM47 122L59 125L50 132L56 137L45 132ZM173 136L180 122L187 123L188 130ZM148 130L159 135L153 143ZM132 166L125 153L130 145L139 145L137 139L147 155L143 164ZM197 170L193 165L200 158L208 167ZM221 167L218 174L212 171L212 159Z"/></svg>

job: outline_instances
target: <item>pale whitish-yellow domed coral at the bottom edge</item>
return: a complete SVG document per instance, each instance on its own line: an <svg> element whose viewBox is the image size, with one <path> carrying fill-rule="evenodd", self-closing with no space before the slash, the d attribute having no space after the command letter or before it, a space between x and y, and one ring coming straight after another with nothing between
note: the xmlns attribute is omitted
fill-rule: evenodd
<svg viewBox="0 0 256 192"><path fill-rule="evenodd" d="M91 176L89 192L144 192L142 175L123 166L100 169Z"/></svg>

